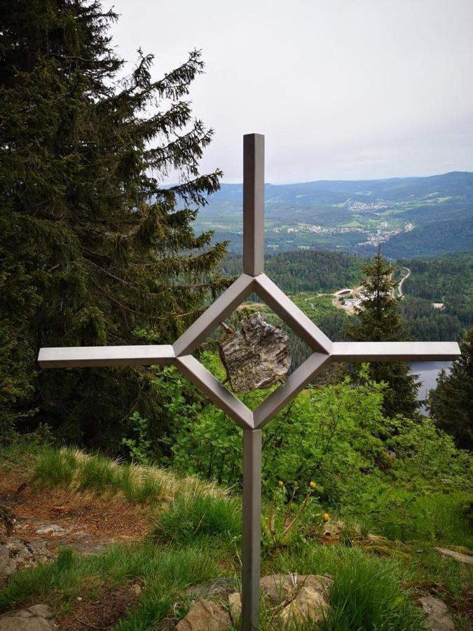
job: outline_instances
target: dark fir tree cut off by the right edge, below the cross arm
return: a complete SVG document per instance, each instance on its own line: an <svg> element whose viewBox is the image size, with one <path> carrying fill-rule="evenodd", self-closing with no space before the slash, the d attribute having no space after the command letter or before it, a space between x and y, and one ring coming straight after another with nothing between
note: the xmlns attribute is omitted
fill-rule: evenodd
<svg viewBox="0 0 473 631"><path fill-rule="evenodd" d="M473 449L473 327L460 344L461 356L449 373L442 370L428 407L437 426L453 436L460 449Z"/></svg>

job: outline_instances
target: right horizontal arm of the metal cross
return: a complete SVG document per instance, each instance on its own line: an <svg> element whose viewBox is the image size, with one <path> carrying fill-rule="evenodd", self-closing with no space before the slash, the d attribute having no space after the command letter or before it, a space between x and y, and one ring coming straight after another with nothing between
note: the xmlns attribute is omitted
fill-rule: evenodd
<svg viewBox="0 0 473 631"><path fill-rule="evenodd" d="M460 354L456 342L334 342L331 348L339 362L451 361Z"/></svg>

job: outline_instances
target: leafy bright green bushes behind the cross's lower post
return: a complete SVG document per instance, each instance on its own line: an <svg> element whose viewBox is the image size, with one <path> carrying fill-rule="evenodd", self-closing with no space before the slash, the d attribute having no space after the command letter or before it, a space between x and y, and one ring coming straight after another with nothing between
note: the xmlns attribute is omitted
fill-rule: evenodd
<svg viewBox="0 0 473 631"><path fill-rule="evenodd" d="M221 377L217 355L207 351L201 359ZM384 388L369 379L365 366L356 384L345 378L308 388L277 414L263 435L263 493L269 503L277 480L282 480L289 497L295 489L289 511L294 508L295 515L306 495L304 489L313 481L317 484L313 501L320 510L335 510L343 520L355 519L365 528L368 524L386 534L411 538L416 529L425 531L427 516L417 503L419 496L468 491L469 456L459 452L431 419L386 419ZM254 408L269 392L245 395L245 403ZM217 407L186 409L168 441L168 462L181 473L197 473L227 487L241 484L241 430ZM282 516L285 510L281 508L277 517L280 534L288 523L288 515ZM266 517L268 513L269 507ZM447 525L453 514L458 515L457 511L451 519L446 515L443 526L429 531L432 538L441 540L453 532ZM292 533L296 538L306 532L304 523L302 519L301 528ZM466 533L458 535L465 538ZM269 530L268 537L270 541Z"/></svg>

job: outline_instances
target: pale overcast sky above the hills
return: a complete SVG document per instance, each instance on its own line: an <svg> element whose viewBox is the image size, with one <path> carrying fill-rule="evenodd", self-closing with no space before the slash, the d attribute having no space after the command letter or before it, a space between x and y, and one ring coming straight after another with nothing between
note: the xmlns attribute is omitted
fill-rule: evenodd
<svg viewBox="0 0 473 631"><path fill-rule="evenodd" d="M105 6L111 6L105 1ZM117 52L153 76L201 48L203 170L241 182L242 135L266 181L473 170L473 0L115 0Z"/></svg>

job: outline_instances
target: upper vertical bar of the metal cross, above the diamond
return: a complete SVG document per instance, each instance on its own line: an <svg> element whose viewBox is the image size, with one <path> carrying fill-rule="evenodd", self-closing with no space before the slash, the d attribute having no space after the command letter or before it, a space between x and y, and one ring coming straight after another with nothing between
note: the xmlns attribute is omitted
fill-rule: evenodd
<svg viewBox="0 0 473 631"><path fill-rule="evenodd" d="M243 273L264 266L264 136L243 136Z"/></svg>

